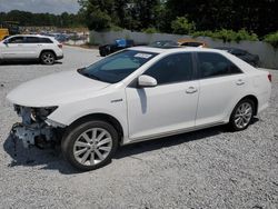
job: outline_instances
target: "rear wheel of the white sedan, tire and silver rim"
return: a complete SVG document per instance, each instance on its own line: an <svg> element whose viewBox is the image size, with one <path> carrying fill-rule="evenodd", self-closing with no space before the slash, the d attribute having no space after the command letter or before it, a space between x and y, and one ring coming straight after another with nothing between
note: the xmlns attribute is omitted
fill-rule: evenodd
<svg viewBox="0 0 278 209"><path fill-rule="evenodd" d="M255 103L250 99L242 99L237 103L237 106L234 108L230 121L229 121L229 128L231 131L240 131L247 129L247 127L252 121L255 113Z"/></svg>

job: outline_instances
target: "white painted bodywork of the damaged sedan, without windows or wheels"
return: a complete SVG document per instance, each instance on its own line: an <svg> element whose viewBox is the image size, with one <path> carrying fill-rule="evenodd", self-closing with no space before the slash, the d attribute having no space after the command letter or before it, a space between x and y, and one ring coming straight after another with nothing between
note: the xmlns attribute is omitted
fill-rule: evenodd
<svg viewBox="0 0 278 209"><path fill-rule="evenodd" d="M129 50L159 53L118 83L89 79L77 71L61 72L21 84L8 94L16 104L58 108L48 119L63 126L96 113L113 117L122 127L122 143L169 136L227 123L235 106L246 96L258 99L258 112L268 106L271 86L268 72L258 70L221 50L202 48ZM131 87L158 60L179 52L214 52L226 57L242 73L196 79L152 88ZM237 84L242 80L244 84ZM187 94L187 89L197 91Z"/></svg>

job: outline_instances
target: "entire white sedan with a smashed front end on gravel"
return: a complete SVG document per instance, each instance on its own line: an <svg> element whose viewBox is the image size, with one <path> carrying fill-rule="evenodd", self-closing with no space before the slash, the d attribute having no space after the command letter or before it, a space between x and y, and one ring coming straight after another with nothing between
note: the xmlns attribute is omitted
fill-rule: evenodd
<svg viewBox="0 0 278 209"><path fill-rule="evenodd" d="M136 47L23 83L8 100L24 147L61 142L73 167L92 170L119 145L226 123L244 130L268 107L270 81L226 51Z"/></svg>

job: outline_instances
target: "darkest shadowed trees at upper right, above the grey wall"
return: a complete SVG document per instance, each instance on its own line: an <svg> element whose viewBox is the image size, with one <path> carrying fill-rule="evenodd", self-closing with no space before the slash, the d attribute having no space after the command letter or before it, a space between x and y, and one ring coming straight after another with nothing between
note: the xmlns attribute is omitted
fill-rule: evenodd
<svg viewBox="0 0 278 209"><path fill-rule="evenodd" d="M278 0L167 0L168 17L187 16L197 30L245 28L262 37L278 28Z"/></svg>

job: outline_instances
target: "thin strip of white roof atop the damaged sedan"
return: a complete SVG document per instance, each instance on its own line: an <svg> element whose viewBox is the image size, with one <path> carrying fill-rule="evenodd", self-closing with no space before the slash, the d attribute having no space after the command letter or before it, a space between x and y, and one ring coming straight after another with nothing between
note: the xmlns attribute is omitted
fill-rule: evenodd
<svg viewBox="0 0 278 209"><path fill-rule="evenodd" d="M198 48L198 47L180 47L180 48L171 48L171 49L161 49L161 48L153 48L153 47L132 47L128 48L129 50L138 50L145 52L152 52L152 53L167 53L167 52L224 52L219 49L209 49L209 48Z"/></svg>

